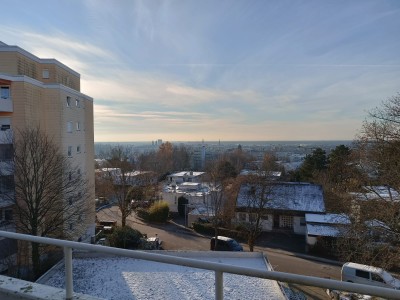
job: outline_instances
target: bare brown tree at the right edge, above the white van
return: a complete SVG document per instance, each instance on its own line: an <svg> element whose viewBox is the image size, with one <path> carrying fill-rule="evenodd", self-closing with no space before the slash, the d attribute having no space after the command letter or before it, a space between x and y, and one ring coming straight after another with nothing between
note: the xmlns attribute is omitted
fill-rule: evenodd
<svg viewBox="0 0 400 300"><path fill-rule="evenodd" d="M352 178L358 186L351 199L353 224L339 240L339 253L344 259L383 267L390 261L398 267L400 95L372 110L356 138L353 152L361 175Z"/></svg>

